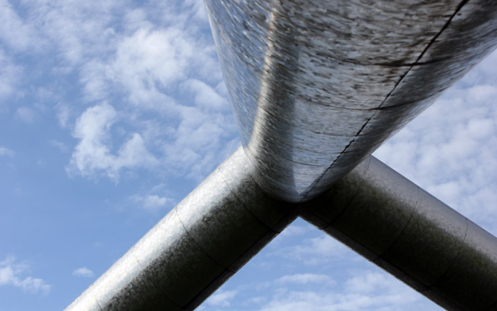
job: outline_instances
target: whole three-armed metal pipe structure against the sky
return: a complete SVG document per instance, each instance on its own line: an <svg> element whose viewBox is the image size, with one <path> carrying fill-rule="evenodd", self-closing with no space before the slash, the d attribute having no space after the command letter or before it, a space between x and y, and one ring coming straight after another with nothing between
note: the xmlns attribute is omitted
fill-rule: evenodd
<svg viewBox="0 0 497 311"><path fill-rule="evenodd" d="M493 50L497 2L205 3L243 148L66 310L193 310L297 216L497 310L497 238L370 156Z"/></svg>

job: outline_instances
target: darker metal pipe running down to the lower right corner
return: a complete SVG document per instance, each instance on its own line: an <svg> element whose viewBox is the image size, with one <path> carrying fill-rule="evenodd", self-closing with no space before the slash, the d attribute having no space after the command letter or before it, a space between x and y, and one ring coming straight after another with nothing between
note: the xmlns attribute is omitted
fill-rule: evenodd
<svg viewBox="0 0 497 311"><path fill-rule="evenodd" d="M301 216L448 310L497 308L497 238L376 158Z"/></svg>

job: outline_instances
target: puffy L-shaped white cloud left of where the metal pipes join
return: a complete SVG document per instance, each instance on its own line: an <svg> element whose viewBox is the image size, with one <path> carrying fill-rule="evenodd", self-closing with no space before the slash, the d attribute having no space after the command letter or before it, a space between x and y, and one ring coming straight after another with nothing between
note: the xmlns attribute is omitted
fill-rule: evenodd
<svg viewBox="0 0 497 311"><path fill-rule="evenodd" d="M117 155L111 153L107 143L110 140L110 126L117 117L117 111L108 104L90 107L79 117L73 133L79 143L72 153L70 170L75 169L83 176L104 172L117 181L121 169L157 165L157 159L148 152L138 133L122 144Z"/></svg>

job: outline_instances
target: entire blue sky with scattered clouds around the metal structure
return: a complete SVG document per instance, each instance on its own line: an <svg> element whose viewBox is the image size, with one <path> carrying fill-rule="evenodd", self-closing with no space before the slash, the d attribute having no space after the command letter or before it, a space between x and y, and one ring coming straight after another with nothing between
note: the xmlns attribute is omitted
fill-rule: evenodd
<svg viewBox="0 0 497 311"><path fill-rule="evenodd" d="M240 144L202 1L0 0L0 311L62 310ZM497 54L375 155L497 234ZM201 310L440 310L297 220Z"/></svg>

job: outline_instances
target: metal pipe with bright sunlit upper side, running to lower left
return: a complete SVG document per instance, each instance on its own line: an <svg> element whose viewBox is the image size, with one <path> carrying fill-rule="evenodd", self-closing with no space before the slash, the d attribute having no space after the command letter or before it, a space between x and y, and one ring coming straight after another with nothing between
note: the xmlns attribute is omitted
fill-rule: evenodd
<svg viewBox="0 0 497 311"><path fill-rule="evenodd" d="M297 217L238 149L66 310L193 310Z"/></svg>

